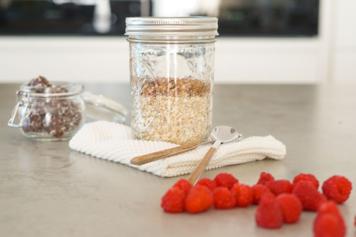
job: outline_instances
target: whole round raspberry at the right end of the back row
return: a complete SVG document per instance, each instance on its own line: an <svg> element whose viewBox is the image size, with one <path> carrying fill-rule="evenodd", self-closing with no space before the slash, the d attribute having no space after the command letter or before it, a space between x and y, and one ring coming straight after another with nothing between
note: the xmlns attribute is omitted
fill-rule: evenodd
<svg viewBox="0 0 356 237"><path fill-rule="evenodd" d="M328 199L343 203L349 198L352 184L344 176L335 175L323 183L322 189Z"/></svg>

